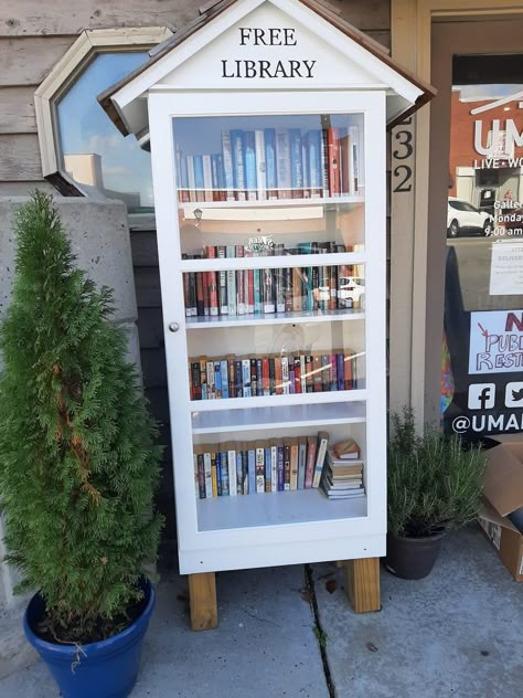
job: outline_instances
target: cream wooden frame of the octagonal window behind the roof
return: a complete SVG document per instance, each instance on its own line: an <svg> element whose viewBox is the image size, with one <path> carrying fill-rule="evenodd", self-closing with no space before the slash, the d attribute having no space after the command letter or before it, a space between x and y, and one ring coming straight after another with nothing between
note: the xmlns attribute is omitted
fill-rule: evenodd
<svg viewBox="0 0 523 698"><path fill-rule="evenodd" d="M125 51L130 46L149 49L171 35L172 32L167 27L93 29L79 34L34 92L36 129L44 177L61 169L53 113L54 102L74 82L78 73L97 53L108 49Z"/></svg>

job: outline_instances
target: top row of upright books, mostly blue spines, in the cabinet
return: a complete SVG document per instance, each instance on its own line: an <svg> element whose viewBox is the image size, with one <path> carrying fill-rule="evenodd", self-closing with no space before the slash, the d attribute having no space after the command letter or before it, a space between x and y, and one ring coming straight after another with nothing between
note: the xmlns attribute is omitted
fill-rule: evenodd
<svg viewBox="0 0 523 698"><path fill-rule="evenodd" d="M355 194L357 126L231 129L221 151L186 155L177 144L179 200L264 201Z"/></svg>

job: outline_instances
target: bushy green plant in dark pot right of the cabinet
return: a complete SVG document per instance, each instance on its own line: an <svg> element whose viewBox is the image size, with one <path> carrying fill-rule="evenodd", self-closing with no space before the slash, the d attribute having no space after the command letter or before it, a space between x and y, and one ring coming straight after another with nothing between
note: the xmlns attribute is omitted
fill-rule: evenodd
<svg viewBox="0 0 523 698"><path fill-rule="evenodd" d="M387 454L385 567L404 579L426 577L444 533L473 520L480 506L485 455L437 426L416 432L414 412L393 414Z"/></svg>

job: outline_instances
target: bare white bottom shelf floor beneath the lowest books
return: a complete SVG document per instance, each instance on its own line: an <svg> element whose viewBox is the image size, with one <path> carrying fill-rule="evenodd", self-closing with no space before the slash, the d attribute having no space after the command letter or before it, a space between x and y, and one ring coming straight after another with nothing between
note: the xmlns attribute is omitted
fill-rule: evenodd
<svg viewBox="0 0 523 698"><path fill-rule="evenodd" d="M331 500L318 489L213 497L196 503L200 531L366 517L366 496Z"/></svg>

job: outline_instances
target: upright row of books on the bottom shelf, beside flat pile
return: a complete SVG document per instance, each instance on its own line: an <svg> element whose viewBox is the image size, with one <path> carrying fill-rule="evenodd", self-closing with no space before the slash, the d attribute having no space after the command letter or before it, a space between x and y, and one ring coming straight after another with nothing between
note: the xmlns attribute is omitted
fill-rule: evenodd
<svg viewBox="0 0 523 698"><path fill-rule="evenodd" d="M316 489L320 485L329 434L194 447L196 497L234 497Z"/></svg>

